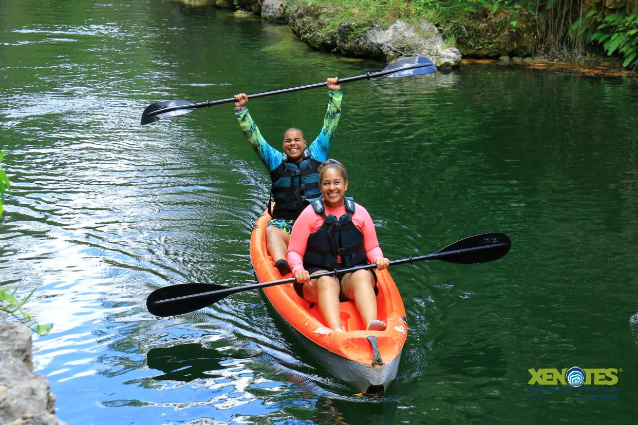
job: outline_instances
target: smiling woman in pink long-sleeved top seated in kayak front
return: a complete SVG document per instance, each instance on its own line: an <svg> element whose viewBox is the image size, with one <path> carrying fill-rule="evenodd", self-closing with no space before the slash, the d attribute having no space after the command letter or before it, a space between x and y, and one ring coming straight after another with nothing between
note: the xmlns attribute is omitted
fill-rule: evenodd
<svg viewBox="0 0 638 425"><path fill-rule="evenodd" d="M336 331L343 332L340 299L355 301L367 330L383 331L385 323L376 319L374 271L310 278L311 273L322 271L368 263L383 270L390 264L383 257L375 225L366 209L344 196L348 179L343 164L328 159L320 164L318 172L322 196L310 200L290 234L287 259L297 279L295 291L301 298L317 303L328 326Z"/></svg>

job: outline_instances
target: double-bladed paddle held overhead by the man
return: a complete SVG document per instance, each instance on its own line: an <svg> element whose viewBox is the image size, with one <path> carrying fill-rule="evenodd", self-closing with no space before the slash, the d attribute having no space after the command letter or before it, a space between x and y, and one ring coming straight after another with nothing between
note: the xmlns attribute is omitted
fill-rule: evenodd
<svg viewBox="0 0 638 425"><path fill-rule="evenodd" d="M392 62L383 71L375 73L366 73L364 75L351 76L349 78L343 78L339 80L338 84L348 83L357 80L369 80L370 78L376 78L378 76L385 76L387 78L398 78L408 75L422 75L431 74L436 72L436 66L422 56L406 57L396 62ZM255 97L273 96L275 94L283 94L290 92L297 92L300 90L315 89L316 87L325 87L324 83L316 83L309 85L300 85L299 87L292 87L290 89L274 90L272 92L263 92L257 94L251 94L248 99ZM172 100L163 101L158 103L149 104L142 112L142 124L150 124L151 122L159 121L161 119L176 117L177 115L184 115L189 112L193 112L197 108L211 107L214 104L230 103L234 102L234 97L228 97L228 99L221 99L216 101L205 101L200 103L190 103L187 100Z"/></svg>

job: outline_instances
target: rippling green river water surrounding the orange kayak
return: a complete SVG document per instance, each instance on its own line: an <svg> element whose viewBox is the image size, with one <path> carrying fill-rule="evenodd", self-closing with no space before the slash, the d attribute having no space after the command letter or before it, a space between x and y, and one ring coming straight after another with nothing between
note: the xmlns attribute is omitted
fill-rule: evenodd
<svg viewBox="0 0 638 425"><path fill-rule="evenodd" d="M327 375L258 292L163 321L146 311L165 285L254 282L249 237L269 178L230 106L140 126L145 106L384 66L174 1L0 4L0 146L13 187L0 284L38 288L27 310L53 329L34 337L34 367L63 421L635 422L632 80L475 65L344 86L330 156L348 166L348 192L387 257L486 231L513 241L495 263L391 270L410 331L380 400ZM289 126L314 137L326 103L318 89L249 106L277 142ZM622 371L616 385L528 385L530 368L572 366Z"/></svg>

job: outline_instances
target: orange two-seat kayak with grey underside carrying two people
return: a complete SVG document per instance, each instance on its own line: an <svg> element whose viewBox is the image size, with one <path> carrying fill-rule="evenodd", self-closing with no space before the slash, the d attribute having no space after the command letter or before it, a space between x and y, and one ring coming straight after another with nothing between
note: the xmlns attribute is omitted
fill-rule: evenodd
<svg viewBox="0 0 638 425"><path fill-rule="evenodd" d="M250 256L259 282L290 278L281 276L266 250L266 226L271 220L264 212L257 219L250 239ZM396 377L401 351L408 336L403 300L387 269L375 272L379 290L376 297L378 319L385 331L366 331L353 301L341 303L341 328L328 328L318 307L299 298L292 284L263 288L265 298L299 338L316 361L332 375L366 394L382 394Z"/></svg>

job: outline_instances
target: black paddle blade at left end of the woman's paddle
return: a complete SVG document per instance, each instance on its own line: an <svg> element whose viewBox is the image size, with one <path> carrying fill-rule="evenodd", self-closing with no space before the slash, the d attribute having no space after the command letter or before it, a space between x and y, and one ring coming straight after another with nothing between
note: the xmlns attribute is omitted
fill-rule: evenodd
<svg viewBox="0 0 638 425"><path fill-rule="evenodd" d="M146 299L146 308L152 315L159 317L177 316L184 313L194 312L200 308L216 303L228 294L211 294L210 296L200 296L197 298L179 299L179 297L204 294L205 292L227 289L222 285L214 284L179 284L168 285L151 292ZM158 301L168 300L165 303Z"/></svg>

